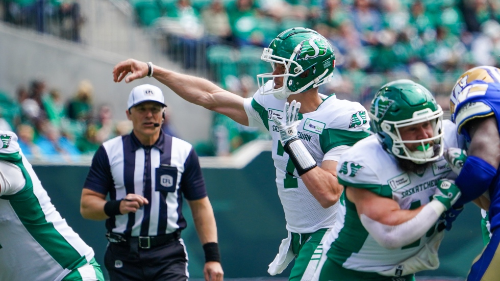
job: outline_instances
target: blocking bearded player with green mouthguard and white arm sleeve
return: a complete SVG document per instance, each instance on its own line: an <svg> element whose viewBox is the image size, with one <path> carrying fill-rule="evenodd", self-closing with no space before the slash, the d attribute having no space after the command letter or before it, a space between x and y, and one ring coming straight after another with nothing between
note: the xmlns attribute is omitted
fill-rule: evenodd
<svg viewBox="0 0 500 281"><path fill-rule="evenodd" d="M442 115L432 94L410 80L377 92L370 107L377 134L340 157L345 214L323 244L314 280L410 281L438 267L444 232L437 222L460 196L443 157L458 139Z"/></svg>

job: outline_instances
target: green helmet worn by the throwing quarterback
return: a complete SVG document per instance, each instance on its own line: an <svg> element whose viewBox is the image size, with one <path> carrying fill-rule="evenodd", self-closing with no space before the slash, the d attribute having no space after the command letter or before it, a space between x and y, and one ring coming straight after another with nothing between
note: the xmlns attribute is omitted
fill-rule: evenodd
<svg viewBox="0 0 500 281"><path fill-rule="evenodd" d="M273 94L278 99L329 83L335 68L335 54L330 42L307 28L282 32L268 48L264 48L261 59L270 62L273 70L276 64L285 65L284 74L257 75L260 94ZM277 89L273 80L276 77L283 77L283 86Z"/></svg>

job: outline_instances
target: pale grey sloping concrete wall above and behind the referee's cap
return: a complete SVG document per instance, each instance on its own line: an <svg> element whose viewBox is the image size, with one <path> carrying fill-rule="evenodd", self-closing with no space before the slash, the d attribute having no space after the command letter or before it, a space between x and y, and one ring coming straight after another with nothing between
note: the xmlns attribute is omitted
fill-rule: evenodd
<svg viewBox="0 0 500 281"><path fill-rule="evenodd" d="M127 119L125 110L130 90L150 83L162 89L172 113L172 124L181 138L190 142L208 138L212 121L208 110L187 103L155 79L114 83L113 66L124 59L127 58L0 23L0 91L14 97L19 85L28 85L31 80L39 78L46 81L49 89L59 89L63 99L68 100L76 92L79 82L88 79L94 86L94 104L97 107L109 104L114 118L124 120ZM175 67L159 58L157 61L155 58L142 59L152 60L166 68Z"/></svg>

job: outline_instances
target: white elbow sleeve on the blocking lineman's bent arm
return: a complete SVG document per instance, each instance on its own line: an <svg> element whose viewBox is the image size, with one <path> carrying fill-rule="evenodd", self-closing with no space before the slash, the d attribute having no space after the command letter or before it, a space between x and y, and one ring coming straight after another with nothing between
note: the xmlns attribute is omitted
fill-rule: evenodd
<svg viewBox="0 0 500 281"><path fill-rule="evenodd" d="M412 219L398 225L386 225L361 214L360 220L377 243L387 249L398 249L417 241L436 223L444 205L432 200Z"/></svg>

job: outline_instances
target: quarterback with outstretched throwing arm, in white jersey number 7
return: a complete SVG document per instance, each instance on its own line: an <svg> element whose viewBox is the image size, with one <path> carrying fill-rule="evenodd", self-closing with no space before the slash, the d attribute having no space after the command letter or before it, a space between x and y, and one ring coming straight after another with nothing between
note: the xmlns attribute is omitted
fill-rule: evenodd
<svg viewBox="0 0 500 281"><path fill-rule="evenodd" d="M271 63L273 72L257 75L261 87L252 98L242 98L205 79L133 59L118 63L113 78L115 82L124 78L131 82L153 76L190 103L269 131L289 234L268 272L281 273L296 256L289 280L310 280L323 239L334 226L340 206L343 188L337 181L337 162L343 151L369 135L369 119L359 103L318 93L317 87L332 79L335 56L328 40L317 32L286 30L264 49L261 59ZM129 72L132 74L126 78ZM294 106L299 109L299 132L293 145L287 145L280 142L280 131L289 123L280 120L284 123L282 109L292 100L298 101Z"/></svg>

